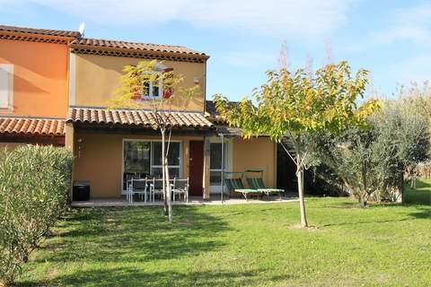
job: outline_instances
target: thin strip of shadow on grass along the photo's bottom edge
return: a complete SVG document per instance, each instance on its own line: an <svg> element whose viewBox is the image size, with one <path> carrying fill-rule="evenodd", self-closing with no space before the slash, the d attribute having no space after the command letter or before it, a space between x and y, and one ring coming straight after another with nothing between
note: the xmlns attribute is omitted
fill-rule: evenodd
<svg viewBox="0 0 431 287"><path fill-rule="evenodd" d="M197 268L198 269L198 268ZM106 268L80 274L57 276L55 286L244 286L262 285L294 278L284 275L267 275L266 270L238 272L145 272L138 268ZM44 282L23 282L16 286L41 286Z"/></svg>

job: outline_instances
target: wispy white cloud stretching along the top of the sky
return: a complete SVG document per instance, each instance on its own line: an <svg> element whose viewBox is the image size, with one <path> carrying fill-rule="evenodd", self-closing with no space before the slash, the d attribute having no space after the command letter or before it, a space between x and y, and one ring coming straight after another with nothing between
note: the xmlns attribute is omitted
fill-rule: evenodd
<svg viewBox="0 0 431 287"><path fill-rule="evenodd" d="M347 10L354 2L356 0L27 1L107 26L183 21L202 28L245 30L277 37L328 35L347 21Z"/></svg>

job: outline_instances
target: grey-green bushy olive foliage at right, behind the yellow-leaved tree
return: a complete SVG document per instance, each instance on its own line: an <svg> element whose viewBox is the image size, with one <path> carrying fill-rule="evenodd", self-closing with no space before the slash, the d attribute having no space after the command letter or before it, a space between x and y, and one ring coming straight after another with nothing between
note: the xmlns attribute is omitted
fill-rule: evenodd
<svg viewBox="0 0 431 287"><path fill-rule="evenodd" d="M369 117L367 129L313 139L317 157L336 171L361 206L369 199L400 201L405 171L428 159L428 121L416 105L412 99L386 101Z"/></svg>

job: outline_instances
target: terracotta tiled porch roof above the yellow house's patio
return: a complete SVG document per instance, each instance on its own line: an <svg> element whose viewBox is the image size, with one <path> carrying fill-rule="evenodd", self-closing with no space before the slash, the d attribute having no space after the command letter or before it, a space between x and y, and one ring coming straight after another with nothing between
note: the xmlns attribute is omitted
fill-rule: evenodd
<svg viewBox="0 0 431 287"><path fill-rule="evenodd" d="M201 113L191 112L170 112L172 126L174 127L194 127L212 128L213 124ZM92 108L71 108L67 122L90 123L90 124L119 124L131 126L154 125L154 113L143 109L92 109Z"/></svg>

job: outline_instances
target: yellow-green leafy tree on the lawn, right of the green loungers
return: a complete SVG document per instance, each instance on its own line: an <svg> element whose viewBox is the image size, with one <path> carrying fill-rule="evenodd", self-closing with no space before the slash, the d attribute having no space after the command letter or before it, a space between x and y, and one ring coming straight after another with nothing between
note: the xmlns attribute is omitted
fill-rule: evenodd
<svg viewBox="0 0 431 287"><path fill-rule="evenodd" d="M307 135L321 130L336 134L347 126L363 126L379 101L368 100L357 107L367 72L361 69L352 77L347 62L325 65L312 78L303 69L291 74L286 68L268 71L267 76L268 83L253 91L256 106L248 98L233 105L215 95L216 109L231 126L240 127L245 138L268 135L282 143L287 136L293 143L294 152L285 150L296 165L301 225L307 227L303 200L303 170L310 151Z"/></svg>

